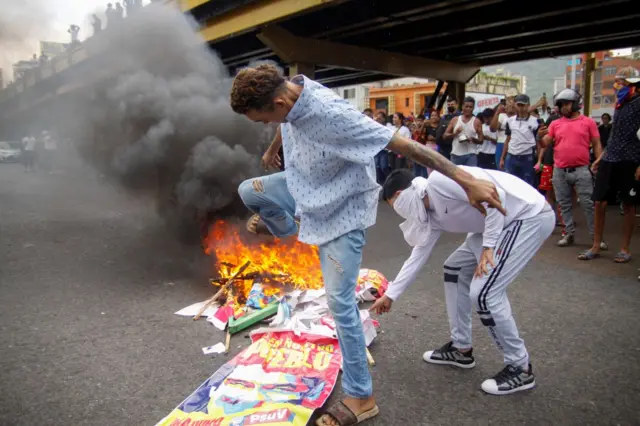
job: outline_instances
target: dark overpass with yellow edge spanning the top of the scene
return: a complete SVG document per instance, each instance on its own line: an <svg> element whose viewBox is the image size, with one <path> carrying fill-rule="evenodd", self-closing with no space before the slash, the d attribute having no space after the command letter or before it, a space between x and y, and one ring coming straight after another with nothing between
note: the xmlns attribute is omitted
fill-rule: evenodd
<svg viewBox="0 0 640 426"><path fill-rule="evenodd" d="M327 86L415 76L460 94L482 65L640 45L633 0L175 1L232 72L274 60ZM105 48L95 39L0 92L0 117L80 87L65 74Z"/></svg>

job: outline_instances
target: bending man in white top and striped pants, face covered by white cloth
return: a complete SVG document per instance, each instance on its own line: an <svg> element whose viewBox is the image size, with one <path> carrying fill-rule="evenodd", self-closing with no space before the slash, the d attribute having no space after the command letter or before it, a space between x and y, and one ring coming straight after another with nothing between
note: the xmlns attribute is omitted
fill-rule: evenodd
<svg viewBox="0 0 640 426"><path fill-rule="evenodd" d="M488 209L483 216L466 201L464 191L438 172L429 179L397 170L384 184L384 198L406 221L400 225L413 247L386 295L372 310L383 313L415 280L443 232L468 233L444 264L444 287L451 342L425 352L425 361L461 368L475 366L471 345L471 310L504 354L505 368L482 383L490 394L505 395L535 386L524 341L511 314L507 286L517 277L555 227L555 215L531 185L504 172L463 167L495 184L507 215Z"/></svg>

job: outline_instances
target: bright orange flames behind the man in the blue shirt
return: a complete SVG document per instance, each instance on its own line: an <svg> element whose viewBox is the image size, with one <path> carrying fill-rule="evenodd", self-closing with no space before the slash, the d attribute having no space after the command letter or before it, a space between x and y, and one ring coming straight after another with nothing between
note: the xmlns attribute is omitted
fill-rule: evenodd
<svg viewBox="0 0 640 426"><path fill-rule="evenodd" d="M215 256L218 277L229 278L250 261L232 289L235 304L243 305L254 280L264 286L265 296L279 294L284 286L318 289L323 286L318 248L295 241L246 244L236 226L219 220L204 241L205 252ZM217 280L220 284L221 280ZM214 280L215 283L215 280Z"/></svg>

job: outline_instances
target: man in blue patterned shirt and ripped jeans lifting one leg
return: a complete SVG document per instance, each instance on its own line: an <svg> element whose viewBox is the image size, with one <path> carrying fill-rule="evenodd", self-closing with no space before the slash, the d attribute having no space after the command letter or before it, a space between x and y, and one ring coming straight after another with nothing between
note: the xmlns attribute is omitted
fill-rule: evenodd
<svg viewBox="0 0 640 426"><path fill-rule="evenodd" d="M238 189L247 207L258 215L249 226L253 230L262 226L279 237L298 235L300 241L320 249L347 397L331 407L318 425L356 424L373 417L378 407L355 286L365 230L376 221L380 187L374 156L387 148L440 171L462 186L470 203L482 212L488 205L504 213L496 188L456 168L434 150L394 134L319 83L304 76L287 81L270 64L238 73L231 107L256 122L282 123L263 162L279 165L282 146L285 171L250 179Z"/></svg>

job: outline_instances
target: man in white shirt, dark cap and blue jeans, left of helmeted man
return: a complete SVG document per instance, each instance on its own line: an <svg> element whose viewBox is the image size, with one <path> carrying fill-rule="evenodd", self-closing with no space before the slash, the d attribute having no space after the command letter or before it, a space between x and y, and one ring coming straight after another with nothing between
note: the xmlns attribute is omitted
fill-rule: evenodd
<svg viewBox="0 0 640 426"><path fill-rule="evenodd" d="M517 114L507 119L500 169L534 185L534 154L538 131L538 119L529 112L529 96L516 96Z"/></svg>

